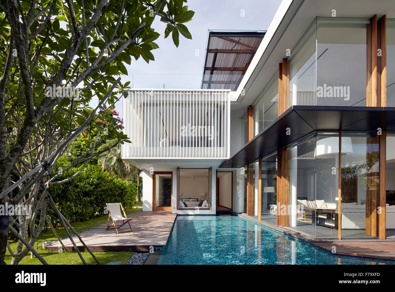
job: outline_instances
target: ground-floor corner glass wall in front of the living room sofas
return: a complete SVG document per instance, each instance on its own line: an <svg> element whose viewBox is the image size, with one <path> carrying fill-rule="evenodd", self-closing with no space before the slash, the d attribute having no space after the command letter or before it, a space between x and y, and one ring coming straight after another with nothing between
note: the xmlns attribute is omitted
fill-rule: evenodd
<svg viewBox="0 0 395 292"><path fill-rule="evenodd" d="M316 238L337 238L339 134L318 133L290 146L287 151L289 228ZM342 133L341 157L341 237L378 237L378 136L369 133ZM389 168L392 158L387 159ZM387 192L391 193L389 184L391 183L387 183Z"/></svg>

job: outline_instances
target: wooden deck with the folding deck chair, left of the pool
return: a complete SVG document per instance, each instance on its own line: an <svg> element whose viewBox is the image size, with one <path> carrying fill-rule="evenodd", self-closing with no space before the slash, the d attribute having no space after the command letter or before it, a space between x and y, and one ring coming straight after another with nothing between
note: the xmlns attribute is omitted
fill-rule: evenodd
<svg viewBox="0 0 395 292"><path fill-rule="evenodd" d="M91 251L148 251L149 246L165 246L173 226L176 214L171 211L137 211L128 218L133 232L119 233L115 229L105 230L107 223L81 232L79 235ZM112 221L110 221L112 223ZM119 231L129 229L124 225ZM80 251L86 251L77 236L73 236ZM68 251L74 249L70 239L62 240ZM48 246L51 251L58 251L59 242Z"/></svg>

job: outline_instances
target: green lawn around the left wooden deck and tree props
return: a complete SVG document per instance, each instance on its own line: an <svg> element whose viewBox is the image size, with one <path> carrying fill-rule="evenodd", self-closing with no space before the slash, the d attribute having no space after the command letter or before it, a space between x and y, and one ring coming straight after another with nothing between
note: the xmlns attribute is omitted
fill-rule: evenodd
<svg viewBox="0 0 395 292"><path fill-rule="evenodd" d="M136 202L136 207L137 208L132 208L125 210L126 214L131 214L136 211L139 211L142 209L143 203L142 202ZM77 232L83 231L85 229L95 227L97 225L106 223L108 219L108 215L101 216L98 218L90 219L87 221L81 221L81 222L73 222L70 223L73 229ZM64 230L63 227L61 228L56 228L56 232L59 234L60 238L67 236L66 231ZM42 231L40 235L37 238L36 242L39 241L51 241L51 240L56 240L56 236L53 233L51 229L48 231ZM9 246L11 249L15 252L17 249L17 241L15 242L10 242ZM64 253L57 253L54 251L49 251L46 248L42 248L42 244L37 244L34 245L34 248L38 253L43 257L43 259L48 263L48 264L61 264L61 265L68 265L68 264L82 264L81 259L79 258L79 255L76 251L72 252L64 252ZM96 264L95 260L90 256L89 253L81 253L87 264ZM121 264L125 264L126 261L133 255L132 251L107 251L107 252L94 252L93 253L95 257L101 262L102 264L107 264L107 262L110 261L121 261ZM7 264L11 264L12 257L7 249L6 251L6 256L4 258L5 262ZM41 264L40 260L38 260L36 257L33 259L30 259L30 253L22 259L19 264L28 264L28 265L34 265L34 264Z"/></svg>

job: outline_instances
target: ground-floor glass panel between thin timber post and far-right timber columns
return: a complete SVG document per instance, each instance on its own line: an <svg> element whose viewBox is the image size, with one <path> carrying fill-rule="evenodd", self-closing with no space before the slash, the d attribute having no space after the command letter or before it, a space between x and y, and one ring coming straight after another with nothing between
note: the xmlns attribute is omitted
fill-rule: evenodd
<svg viewBox="0 0 395 292"><path fill-rule="evenodd" d="M341 147L341 237L377 237L380 222L378 137L342 133Z"/></svg>

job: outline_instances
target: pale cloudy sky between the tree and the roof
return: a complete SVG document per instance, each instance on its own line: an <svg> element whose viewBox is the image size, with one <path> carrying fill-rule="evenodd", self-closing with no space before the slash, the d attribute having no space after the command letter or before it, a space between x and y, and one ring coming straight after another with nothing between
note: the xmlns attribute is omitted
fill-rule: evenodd
<svg viewBox="0 0 395 292"><path fill-rule="evenodd" d="M195 11L190 22L185 23L192 40L182 37L178 48L171 35L164 39L166 23L154 20L152 27L160 33L152 50L155 61L147 64L142 58L126 64L128 75L122 83L130 81L134 88L200 88L205 58L208 30L267 30L281 0L189 0L188 10ZM133 84L133 86L132 86ZM97 100L92 102L92 106ZM120 102L116 110L121 113Z"/></svg>

